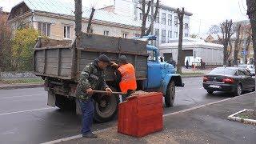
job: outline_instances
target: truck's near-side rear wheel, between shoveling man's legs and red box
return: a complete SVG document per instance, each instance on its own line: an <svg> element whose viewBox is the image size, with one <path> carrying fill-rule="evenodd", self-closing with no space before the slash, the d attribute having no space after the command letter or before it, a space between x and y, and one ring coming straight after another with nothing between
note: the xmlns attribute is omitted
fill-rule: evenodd
<svg viewBox="0 0 256 144"><path fill-rule="evenodd" d="M111 87L111 90L116 91ZM94 101L94 121L95 122L108 122L118 112L118 97L115 94L108 96L106 94L100 95L99 102Z"/></svg>

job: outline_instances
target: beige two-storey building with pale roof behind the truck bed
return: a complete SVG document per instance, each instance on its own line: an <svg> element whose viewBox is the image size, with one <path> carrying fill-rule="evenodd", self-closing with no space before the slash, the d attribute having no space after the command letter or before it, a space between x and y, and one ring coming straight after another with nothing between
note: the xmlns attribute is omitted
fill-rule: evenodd
<svg viewBox="0 0 256 144"><path fill-rule="evenodd" d="M83 8L82 31L84 32L89 17L90 9ZM59 0L40 2L24 0L12 8L8 22L12 30L31 26L38 30L39 35L49 38L73 40L75 37L74 4ZM130 38L140 33L140 25L122 15L95 10L90 33Z"/></svg>

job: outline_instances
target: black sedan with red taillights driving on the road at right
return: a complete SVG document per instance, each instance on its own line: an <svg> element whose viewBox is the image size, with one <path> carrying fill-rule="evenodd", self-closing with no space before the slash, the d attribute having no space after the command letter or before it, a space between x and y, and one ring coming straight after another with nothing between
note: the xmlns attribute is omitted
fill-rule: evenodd
<svg viewBox="0 0 256 144"><path fill-rule="evenodd" d="M255 78L243 68L217 67L203 77L203 87L209 94L226 91L241 95L243 91L255 90Z"/></svg>

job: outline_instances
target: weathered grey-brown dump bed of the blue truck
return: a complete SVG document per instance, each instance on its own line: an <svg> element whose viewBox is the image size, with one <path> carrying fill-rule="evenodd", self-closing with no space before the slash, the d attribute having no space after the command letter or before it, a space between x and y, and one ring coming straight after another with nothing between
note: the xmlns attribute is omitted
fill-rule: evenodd
<svg viewBox="0 0 256 144"><path fill-rule="evenodd" d="M146 79L146 41L82 33L70 46L65 46L66 43L60 46L59 43L58 46L35 46L34 74L77 81L83 68L100 54L106 54L113 62L125 54L128 62L134 65L137 79ZM114 80L113 74L113 69L108 68L106 81Z"/></svg>

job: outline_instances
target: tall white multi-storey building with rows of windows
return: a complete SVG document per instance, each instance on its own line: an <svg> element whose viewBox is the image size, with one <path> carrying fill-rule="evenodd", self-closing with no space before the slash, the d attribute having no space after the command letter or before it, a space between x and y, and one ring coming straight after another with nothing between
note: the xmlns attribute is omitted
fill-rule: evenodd
<svg viewBox="0 0 256 144"><path fill-rule="evenodd" d="M139 0L114 0L114 13L124 15L130 19L142 23L142 10L139 10ZM158 16L154 22L154 34L158 35L157 46L161 43L168 43L172 38L178 38L178 16L176 8L160 5ZM147 6L146 6L147 8ZM151 12L149 13L151 14ZM183 36L190 35L190 16L192 14L185 12ZM146 26L150 26L150 18Z"/></svg>

